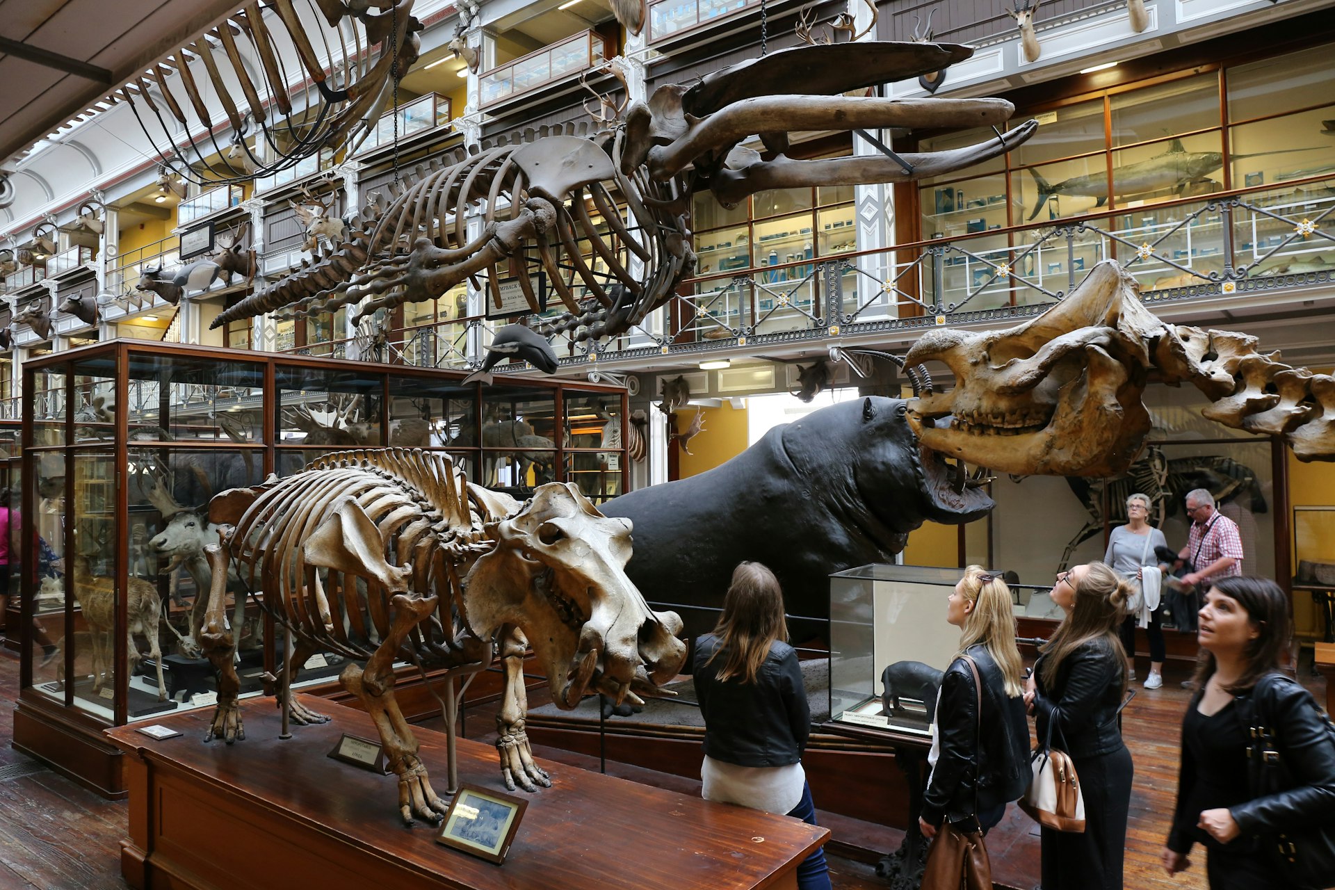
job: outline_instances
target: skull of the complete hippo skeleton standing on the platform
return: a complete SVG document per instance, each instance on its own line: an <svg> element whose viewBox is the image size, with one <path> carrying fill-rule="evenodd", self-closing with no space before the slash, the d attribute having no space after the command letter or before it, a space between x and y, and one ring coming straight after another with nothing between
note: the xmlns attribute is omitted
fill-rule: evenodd
<svg viewBox="0 0 1335 890"><path fill-rule="evenodd" d="M567 483L541 486L523 510L486 526L497 546L469 574L469 623L482 636L518 626L561 707L586 690L638 703L635 693L654 693L686 659L681 618L651 611L626 576L630 528Z"/></svg>

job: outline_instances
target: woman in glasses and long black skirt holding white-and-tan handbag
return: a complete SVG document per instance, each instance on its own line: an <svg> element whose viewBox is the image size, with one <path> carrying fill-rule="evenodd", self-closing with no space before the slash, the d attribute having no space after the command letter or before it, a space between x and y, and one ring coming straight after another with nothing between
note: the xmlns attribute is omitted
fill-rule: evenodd
<svg viewBox="0 0 1335 890"><path fill-rule="evenodd" d="M1043 829L1043 890L1121 890L1133 767L1117 726L1127 691L1117 630L1131 592L1101 562L1059 574L1052 587L1065 618L1040 650L1025 699L1039 741L1075 762L1085 830Z"/></svg>

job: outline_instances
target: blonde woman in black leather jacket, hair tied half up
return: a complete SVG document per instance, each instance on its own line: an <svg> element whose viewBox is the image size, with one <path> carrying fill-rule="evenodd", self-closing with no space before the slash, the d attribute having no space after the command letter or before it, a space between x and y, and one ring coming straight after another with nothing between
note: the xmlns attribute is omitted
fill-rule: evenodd
<svg viewBox="0 0 1335 890"><path fill-rule="evenodd" d="M918 818L929 838L943 819L957 823L976 817L987 831L1029 783L1029 725L1011 590L981 566L969 566L951 594L945 620L963 632L937 695L936 738L928 757L932 775ZM965 655L983 681L981 715Z"/></svg>

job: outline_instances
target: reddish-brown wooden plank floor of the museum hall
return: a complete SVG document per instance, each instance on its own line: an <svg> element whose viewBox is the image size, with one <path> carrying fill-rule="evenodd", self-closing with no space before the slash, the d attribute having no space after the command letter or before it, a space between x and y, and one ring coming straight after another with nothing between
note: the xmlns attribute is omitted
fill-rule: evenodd
<svg viewBox="0 0 1335 890"><path fill-rule="evenodd" d="M1144 670L1144 664L1140 666ZM1179 686L1185 667L1169 664L1161 690L1140 689L1124 711L1124 734L1136 766L1127 834L1125 886L1135 890L1204 890L1203 863L1169 879L1159 867L1159 851L1168 829L1177 782L1177 745L1181 713L1189 693ZM1300 671L1303 682L1324 701L1324 681L1312 678L1310 660ZM0 654L0 742L12 738L13 702L19 664ZM1139 689L1139 686L1137 686ZM537 691L537 690L535 690ZM537 701L538 695L533 697ZM494 739L493 715L481 707L469 714L469 737ZM598 769L593 758L542 750L543 757L585 769ZM590 762L591 761L591 762ZM609 765L623 778L698 793L698 781ZM817 801L817 803L820 803ZM836 821L837 817L828 819ZM56 775L41 763L0 745L0 890L124 890L120 877L120 839L127 821L124 802L104 801L79 785ZM884 838L885 850L896 846L900 833L882 826L846 826L868 837ZM989 835L999 883L1029 890L1039 883L1039 838L1032 822L1011 807L1005 821ZM872 866L830 858L836 887L870 890L884 887Z"/></svg>

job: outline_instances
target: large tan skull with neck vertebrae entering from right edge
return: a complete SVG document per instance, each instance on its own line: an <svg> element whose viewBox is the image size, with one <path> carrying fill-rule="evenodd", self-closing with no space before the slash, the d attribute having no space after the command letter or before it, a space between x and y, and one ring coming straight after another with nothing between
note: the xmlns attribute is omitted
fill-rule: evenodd
<svg viewBox="0 0 1335 890"><path fill-rule="evenodd" d="M1115 262L1096 266L1064 300L1003 331L933 331L909 364L944 362L955 390L917 399L922 444L945 456L1023 475L1124 472L1149 432L1149 376L1195 384L1204 415L1284 435L1303 460L1335 459L1335 380L1262 355L1252 336L1167 326Z"/></svg>

